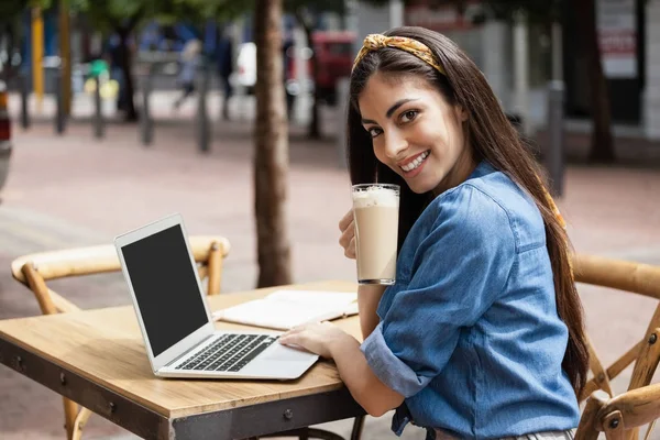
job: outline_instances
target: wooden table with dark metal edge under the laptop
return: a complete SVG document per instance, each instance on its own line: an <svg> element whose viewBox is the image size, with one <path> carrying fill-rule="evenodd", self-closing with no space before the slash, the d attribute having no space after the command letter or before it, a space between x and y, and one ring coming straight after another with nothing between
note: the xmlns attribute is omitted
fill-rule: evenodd
<svg viewBox="0 0 660 440"><path fill-rule="evenodd" d="M356 285L286 288L355 292ZM275 289L223 294L209 304L216 310ZM337 323L359 337L358 317ZM290 382L157 378L133 307L0 321L0 363L144 438L243 439L364 414L328 361Z"/></svg>

